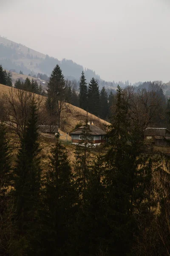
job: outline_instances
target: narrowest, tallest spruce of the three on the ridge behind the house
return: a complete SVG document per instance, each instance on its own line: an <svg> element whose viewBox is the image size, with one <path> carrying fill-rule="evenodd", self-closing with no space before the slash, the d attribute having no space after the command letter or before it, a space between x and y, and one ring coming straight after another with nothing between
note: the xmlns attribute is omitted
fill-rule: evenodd
<svg viewBox="0 0 170 256"><path fill-rule="evenodd" d="M88 110L88 87L83 71L79 81L79 106L84 110Z"/></svg>

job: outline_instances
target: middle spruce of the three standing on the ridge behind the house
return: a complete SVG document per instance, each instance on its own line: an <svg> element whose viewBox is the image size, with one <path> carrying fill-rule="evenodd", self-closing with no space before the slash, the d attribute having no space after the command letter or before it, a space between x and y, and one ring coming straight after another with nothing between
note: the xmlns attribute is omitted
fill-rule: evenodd
<svg viewBox="0 0 170 256"><path fill-rule="evenodd" d="M99 116L100 94L97 80L94 77L88 85L88 111L95 116Z"/></svg>

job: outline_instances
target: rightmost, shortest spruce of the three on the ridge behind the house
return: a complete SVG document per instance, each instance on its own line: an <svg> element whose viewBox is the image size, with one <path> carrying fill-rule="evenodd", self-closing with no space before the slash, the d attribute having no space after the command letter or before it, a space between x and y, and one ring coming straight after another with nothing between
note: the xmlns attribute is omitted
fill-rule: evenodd
<svg viewBox="0 0 170 256"><path fill-rule="evenodd" d="M108 93L106 92L105 87L102 87L100 92L100 117L105 119L108 116Z"/></svg>

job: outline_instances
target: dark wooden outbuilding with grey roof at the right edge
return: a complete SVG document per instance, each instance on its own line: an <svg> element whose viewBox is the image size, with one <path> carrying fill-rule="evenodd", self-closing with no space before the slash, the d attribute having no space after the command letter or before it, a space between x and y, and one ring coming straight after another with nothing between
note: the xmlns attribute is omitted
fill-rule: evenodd
<svg viewBox="0 0 170 256"><path fill-rule="evenodd" d="M144 137L157 146L170 146L170 130L167 128L146 128Z"/></svg>

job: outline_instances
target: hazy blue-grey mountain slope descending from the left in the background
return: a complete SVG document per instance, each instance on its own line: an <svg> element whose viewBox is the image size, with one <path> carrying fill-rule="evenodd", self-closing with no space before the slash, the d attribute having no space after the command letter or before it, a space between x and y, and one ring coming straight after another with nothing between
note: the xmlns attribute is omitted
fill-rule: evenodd
<svg viewBox="0 0 170 256"><path fill-rule="evenodd" d="M87 81L90 81L92 77L100 80L100 76L96 75L93 70L84 69L82 65L72 60L62 59L59 61L57 58L42 54L3 37L0 37L0 64L6 70L12 70L16 73L21 70L23 74L31 74L31 76L37 75L37 73L50 76L54 67L59 64L65 78L79 80L82 70L84 70Z"/></svg>

